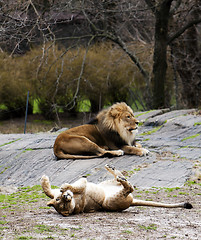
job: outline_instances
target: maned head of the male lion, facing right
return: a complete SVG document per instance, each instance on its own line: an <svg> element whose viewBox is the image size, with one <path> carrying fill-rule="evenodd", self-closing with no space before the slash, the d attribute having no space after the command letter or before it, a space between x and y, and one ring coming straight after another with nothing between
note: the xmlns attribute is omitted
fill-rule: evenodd
<svg viewBox="0 0 201 240"><path fill-rule="evenodd" d="M115 103L97 115L98 124L104 129L116 131L128 144L134 142L139 121L134 117L133 110L124 102Z"/></svg>

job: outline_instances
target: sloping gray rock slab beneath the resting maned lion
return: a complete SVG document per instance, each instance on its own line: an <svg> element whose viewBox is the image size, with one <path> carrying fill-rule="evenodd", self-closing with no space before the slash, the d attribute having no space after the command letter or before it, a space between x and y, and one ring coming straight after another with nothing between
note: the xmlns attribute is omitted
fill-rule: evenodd
<svg viewBox="0 0 201 240"><path fill-rule="evenodd" d="M146 157L57 161L52 147L58 132L0 134L0 185L40 184L43 174L56 186L83 175L97 183L111 177L104 169L109 163L124 171L138 187L181 187L193 175L195 164L198 171L201 166L201 116L190 114L193 111L136 113L144 123L137 138L150 150Z"/></svg>

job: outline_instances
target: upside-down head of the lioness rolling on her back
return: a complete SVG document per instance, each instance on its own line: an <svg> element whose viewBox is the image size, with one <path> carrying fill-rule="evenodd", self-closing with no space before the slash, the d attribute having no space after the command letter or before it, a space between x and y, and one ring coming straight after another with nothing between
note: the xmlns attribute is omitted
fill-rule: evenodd
<svg viewBox="0 0 201 240"><path fill-rule="evenodd" d="M47 206L54 207L63 216L70 215L75 209L73 193L70 190L60 193L47 203Z"/></svg>

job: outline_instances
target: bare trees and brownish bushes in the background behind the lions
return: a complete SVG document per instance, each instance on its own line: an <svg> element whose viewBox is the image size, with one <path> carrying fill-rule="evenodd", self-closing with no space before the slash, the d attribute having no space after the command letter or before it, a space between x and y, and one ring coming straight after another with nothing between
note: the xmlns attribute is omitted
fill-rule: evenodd
<svg viewBox="0 0 201 240"><path fill-rule="evenodd" d="M0 118L201 107L201 0L0 1Z"/></svg>

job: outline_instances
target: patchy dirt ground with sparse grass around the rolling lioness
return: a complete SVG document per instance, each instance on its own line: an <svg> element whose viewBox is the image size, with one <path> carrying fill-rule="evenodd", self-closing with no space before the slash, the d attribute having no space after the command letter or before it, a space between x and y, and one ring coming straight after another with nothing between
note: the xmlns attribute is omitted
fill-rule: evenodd
<svg viewBox="0 0 201 240"><path fill-rule="evenodd" d="M129 208L124 212L63 217L46 207L40 186L0 194L0 239L200 239L201 184L183 188L136 189L135 198L185 202L193 209ZM5 191L5 189L4 189Z"/></svg>

